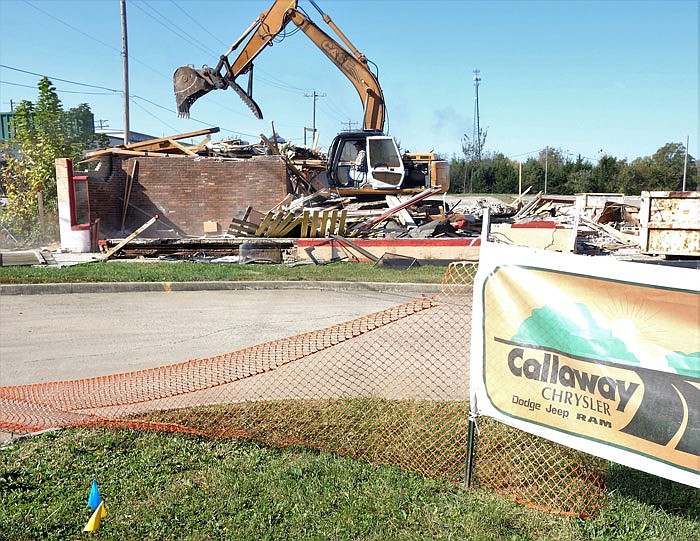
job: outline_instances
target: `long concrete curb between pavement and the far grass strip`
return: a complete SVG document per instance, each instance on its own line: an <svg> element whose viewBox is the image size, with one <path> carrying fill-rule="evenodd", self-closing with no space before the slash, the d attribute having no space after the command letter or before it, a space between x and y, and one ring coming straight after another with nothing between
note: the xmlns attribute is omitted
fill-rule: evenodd
<svg viewBox="0 0 700 541"><path fill-rule="evenodd" d="M256 289L320 289L326 291L377 291L425 293L440 291L440 284L382 282L236 281L236 282L89 282L71 284L0 285L0 295L53 295L66 293L125 293L149 291L231 291Z"/></svg>

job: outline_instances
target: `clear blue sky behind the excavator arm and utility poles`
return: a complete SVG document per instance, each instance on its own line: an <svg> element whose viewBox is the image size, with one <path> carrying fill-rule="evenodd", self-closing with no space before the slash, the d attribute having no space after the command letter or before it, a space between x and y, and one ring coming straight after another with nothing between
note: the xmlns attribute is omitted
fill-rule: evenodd
<svg viewBox="0 0 700 541"><path fill-rule="evenodd" d="M386 128L406 150L461 153L479 69L486 150L525 160L549 146L593 162L603 154L631 160L689 136L698 156L697 0L317 3L378 66ZM360 126L355 90L300 32L255 62L264 120L232 90L210 92L190 120L177 118L174 70L215 65L271 4L127 0L131 129L161 137L218 126L216 139L257 142L273 121L302 143L313 116L305 94L314 90L324 95L316 101L322 147ZM299 5L327 29L308 0ZM122 129L121 42L119 0L0 0L0 109L35 101L33 74L42 74L65 108L88 103L96 120Z"/></svg>

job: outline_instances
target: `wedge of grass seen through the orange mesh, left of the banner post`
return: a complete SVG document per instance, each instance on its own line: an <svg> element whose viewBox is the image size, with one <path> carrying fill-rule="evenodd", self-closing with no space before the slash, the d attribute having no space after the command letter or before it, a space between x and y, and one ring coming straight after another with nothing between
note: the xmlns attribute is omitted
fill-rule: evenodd
<svg viewBox="0 0 700 541"><path fill-rule="evenodd" d="M303 443L456 480L464 476L468 416L466 400L339 398L196 406L132 418L212 437L243 435L274 447Z"/></svg>

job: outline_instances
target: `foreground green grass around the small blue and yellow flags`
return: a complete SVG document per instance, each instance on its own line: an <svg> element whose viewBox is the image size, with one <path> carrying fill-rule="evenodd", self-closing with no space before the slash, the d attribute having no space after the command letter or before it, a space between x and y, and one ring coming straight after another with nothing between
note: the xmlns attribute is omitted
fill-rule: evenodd
<svg viewBox="0 0 700 541"><path fill-rule="evenodd" d="M614 466L595 519L302 447L70 429L0 450L0 539L691 540L698 492ZM97 479L107 517L83 533Z"/></svg>

